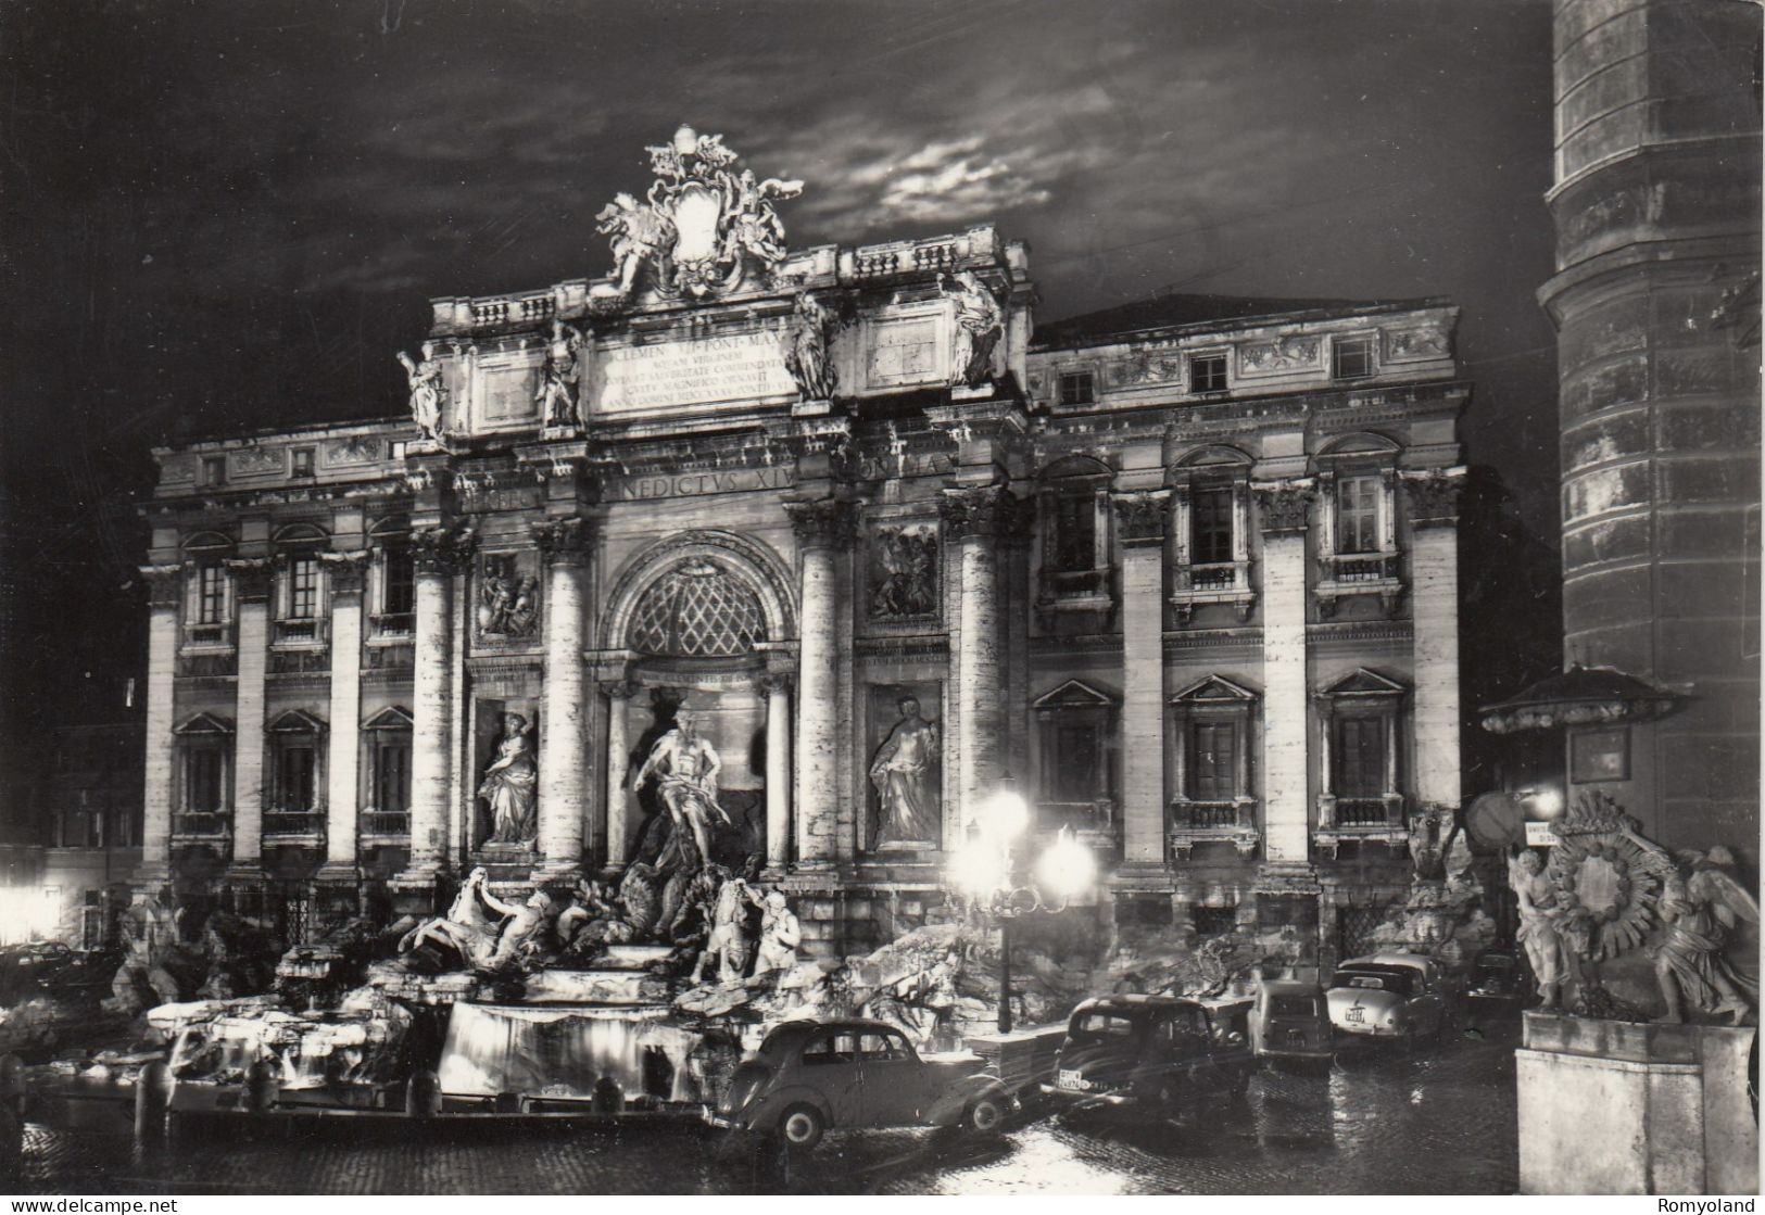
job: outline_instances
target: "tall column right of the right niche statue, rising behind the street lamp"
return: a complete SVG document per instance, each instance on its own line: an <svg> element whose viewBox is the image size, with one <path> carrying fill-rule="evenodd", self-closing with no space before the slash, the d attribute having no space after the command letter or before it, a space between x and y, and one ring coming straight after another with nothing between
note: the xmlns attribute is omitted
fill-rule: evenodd
<svg viewBox="0 0 1765 1215"><path fill-rule="evenodd" d="M1004 776L999 531L1017 499L1003 485L946 488L944 534L958 543L957 824L965 831Z"/></svg>

